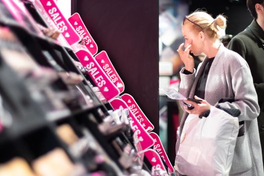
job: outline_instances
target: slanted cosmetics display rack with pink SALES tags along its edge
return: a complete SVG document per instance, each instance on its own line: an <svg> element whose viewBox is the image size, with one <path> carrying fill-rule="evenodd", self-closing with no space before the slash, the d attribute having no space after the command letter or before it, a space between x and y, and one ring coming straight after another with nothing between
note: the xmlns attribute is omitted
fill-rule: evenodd
<svg viewBox="0 0 264 176"><path fill-rule="evenodd" d="M0 1L0 175L173 175L124 89L78 14Z"/></svg>

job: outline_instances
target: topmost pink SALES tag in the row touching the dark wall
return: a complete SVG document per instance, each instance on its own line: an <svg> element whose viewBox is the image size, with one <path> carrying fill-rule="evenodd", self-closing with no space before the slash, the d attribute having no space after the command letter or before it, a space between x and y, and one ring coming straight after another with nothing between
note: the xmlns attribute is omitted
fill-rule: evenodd
<svg viewBox="0 0 264 176"><path fill-rule="evenodd" d="M86 46L86 48L92 53L92 55L95 55L98 51L97 44L85 27L83 21L80 18L80 15L78 13L75 13L68 19L68 21L70 22L74 30L78 33L80 39L85 41L84 45Z"/></svg>

